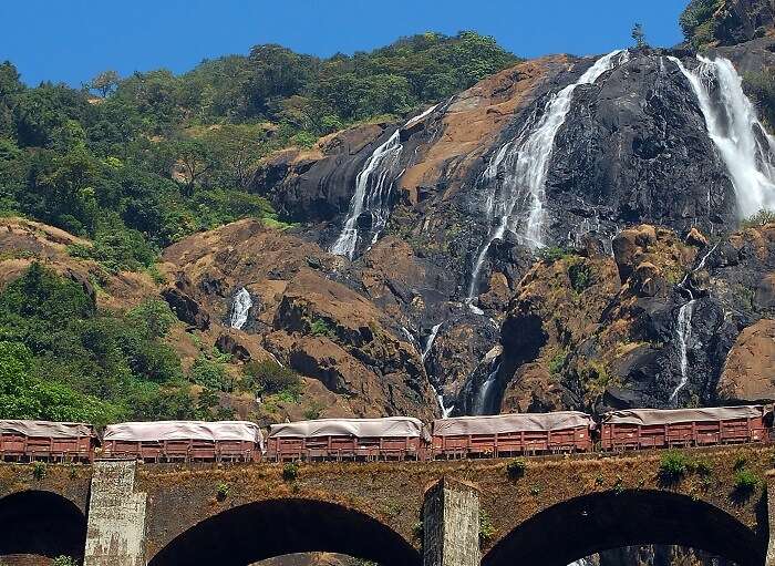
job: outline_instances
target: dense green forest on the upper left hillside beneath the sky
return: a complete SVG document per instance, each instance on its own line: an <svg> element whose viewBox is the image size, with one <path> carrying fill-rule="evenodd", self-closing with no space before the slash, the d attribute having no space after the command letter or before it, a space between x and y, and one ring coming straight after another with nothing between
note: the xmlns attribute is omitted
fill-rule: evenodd
<svg viewBox="0 0 775 566"><path fill-rule="evenodd" d="M194 231L242 217L277 223L247 192L268 153L415 112L516 61L492 38L461 32L326 60L256 45L177 76L107 70L83 90L28 88L4 62L0 212L94 239L72 251L111 270L148 267Z"/></svg>

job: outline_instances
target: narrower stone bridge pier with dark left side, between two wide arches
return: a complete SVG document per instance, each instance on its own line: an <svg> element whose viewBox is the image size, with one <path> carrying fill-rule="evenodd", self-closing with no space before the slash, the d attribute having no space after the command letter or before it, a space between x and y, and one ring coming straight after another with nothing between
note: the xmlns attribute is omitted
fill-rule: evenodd
<svg viewBox="0 0 775 566"><path fill-rule="evenodd" d="M443 478L425 493L423 566L478 566L480 560L478 492Z"/></svg>

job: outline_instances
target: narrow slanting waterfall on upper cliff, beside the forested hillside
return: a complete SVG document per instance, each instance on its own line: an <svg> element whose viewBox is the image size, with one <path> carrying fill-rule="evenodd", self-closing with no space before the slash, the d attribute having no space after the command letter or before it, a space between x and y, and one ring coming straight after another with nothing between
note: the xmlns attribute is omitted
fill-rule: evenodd
<svg viewBox="0 0 775 566"><path fill-rule="evenodd" d="M433 112L436 106L431 106L417 114L403 128L416 124ZM347 256L352 259L358 245L358 217L364 212L371 213L372 225L370 235L372 244L376 241L380 233L388 225L390 217L390 199L393 183L401 173L396 174L401 159L403 145L401 143L401 130L393 132L385 143L380 145L366 159L363 168L355 176L355 193L350 200L348 216L342 227L342 233L333 243L329 251L337 256ZM402 172L403 173L403 172Z"/></svg>

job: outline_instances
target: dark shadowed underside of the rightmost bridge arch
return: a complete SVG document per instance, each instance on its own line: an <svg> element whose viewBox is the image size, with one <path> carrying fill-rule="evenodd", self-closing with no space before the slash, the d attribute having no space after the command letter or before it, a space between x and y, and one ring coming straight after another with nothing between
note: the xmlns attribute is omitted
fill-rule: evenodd
<svg viewBox="0 0 775 566"><path fill-rule="evenodd" d="M558 503L515 527L482 566L566 566L601 550L675 544L740 566L764 564L766 536L725 511L660 490L600 492Z"/></svg>

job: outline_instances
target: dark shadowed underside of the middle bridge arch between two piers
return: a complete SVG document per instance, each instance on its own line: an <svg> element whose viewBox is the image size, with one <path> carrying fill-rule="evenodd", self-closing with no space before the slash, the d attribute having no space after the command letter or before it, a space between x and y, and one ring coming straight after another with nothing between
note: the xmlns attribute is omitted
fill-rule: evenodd
<svg viewBox="0 0 775 566"><path fill-rule="evenodd" d="M343 505L289 498L249 503L197 523L162 548L148 566L247 566L288 554L327 552L418 566L420 554L375 518Z"/></svg>

